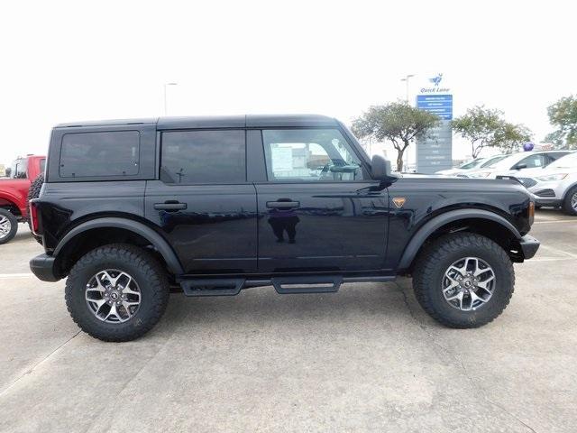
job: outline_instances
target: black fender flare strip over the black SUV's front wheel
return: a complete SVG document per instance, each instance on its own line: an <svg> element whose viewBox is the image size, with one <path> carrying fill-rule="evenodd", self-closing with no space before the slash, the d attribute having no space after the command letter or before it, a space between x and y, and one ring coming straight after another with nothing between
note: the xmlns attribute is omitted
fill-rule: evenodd
<svg viewBox="0 0 577 433"><path fill-rule="evenodd" d="M398 269L408 269L421 246L425 243L426 238L432 235L438 228L452 223L453 221L458 221L460 219L487 219L508 229L511 235L514 235L517 239L521 239L521 234L517 230L516 226L513 226L506 218L501 217L499 214L490 212L489 210L483 209L456 209L445 212L444 214L438 215L426 222L421 228L417 230L417 233L413 235L409 241L407 248L403 252L398 263Z"/></svg>

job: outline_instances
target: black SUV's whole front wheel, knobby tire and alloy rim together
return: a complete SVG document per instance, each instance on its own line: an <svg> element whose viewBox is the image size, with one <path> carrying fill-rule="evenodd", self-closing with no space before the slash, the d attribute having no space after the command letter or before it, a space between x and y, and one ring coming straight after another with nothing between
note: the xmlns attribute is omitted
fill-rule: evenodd
<svg viewBox="0 0 577 433"><path fill-rule="evenodd" d="M508 254L489 238L444 235L419 254L413 288L421 307L447 327L481 327L508 305L515 285Z"/></svg>

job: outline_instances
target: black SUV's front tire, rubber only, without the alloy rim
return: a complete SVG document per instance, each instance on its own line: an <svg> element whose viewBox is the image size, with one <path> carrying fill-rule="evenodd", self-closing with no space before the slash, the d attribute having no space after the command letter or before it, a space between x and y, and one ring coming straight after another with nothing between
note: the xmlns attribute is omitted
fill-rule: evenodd
<svg viewBox="0 0 577 433"><path fill-rule="evenodd" d="M444 299L444 272L463 257L478 257L495 273L491 298L478 309L455 309ZM499 317L508 306L515 287L515 272L508 254L488 237L472 233L444 235L419 253L413 270L413 289L418 303L446 327L481 327Z"/></svg>

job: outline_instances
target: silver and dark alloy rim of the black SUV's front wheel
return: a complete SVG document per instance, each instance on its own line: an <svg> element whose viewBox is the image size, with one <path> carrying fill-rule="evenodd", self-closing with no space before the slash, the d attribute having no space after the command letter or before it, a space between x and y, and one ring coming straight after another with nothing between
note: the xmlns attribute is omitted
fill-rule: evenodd
<svg viewBox="0 0 577 433"><path fill-rule="evenodd" d="M495 272L479 257L463 257L444 272L441 289L444 299L454 309L480 309L493 296Z"/></svg>

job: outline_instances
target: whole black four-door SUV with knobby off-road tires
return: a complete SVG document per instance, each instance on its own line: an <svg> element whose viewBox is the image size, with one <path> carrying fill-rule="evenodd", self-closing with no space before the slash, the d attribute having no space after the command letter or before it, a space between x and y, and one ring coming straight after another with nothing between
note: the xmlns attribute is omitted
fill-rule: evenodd
<svg viewBox="0 0 577 433"><path fill-rule="evenodd" d="M318 293L412 275L449 327L479 327L533 257L535 204L510 180L399 178L337 120L246 115L60 124L31 201L43 281L68 276L91 336L142 336L170 290Z"/></svg>

